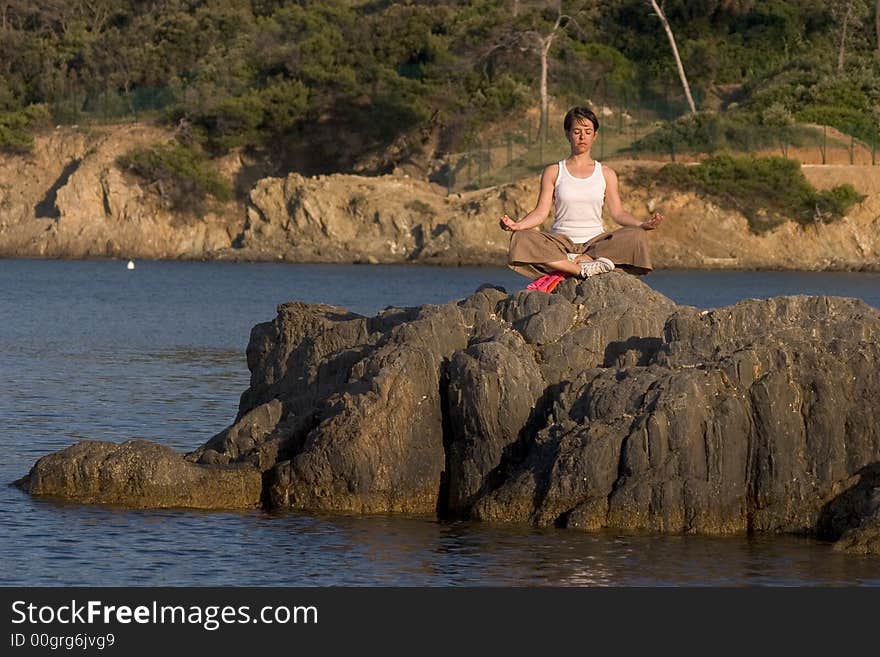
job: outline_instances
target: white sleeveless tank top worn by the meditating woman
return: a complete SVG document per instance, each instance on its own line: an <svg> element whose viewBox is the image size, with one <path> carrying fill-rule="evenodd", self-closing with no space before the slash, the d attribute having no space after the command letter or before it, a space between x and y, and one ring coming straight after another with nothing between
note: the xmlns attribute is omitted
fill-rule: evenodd
<svg viewBox="0 0 880 657"><path fill-rule="evenodd" d="M556 217L554 233L562 233L575 244L583 244L605 232L602 225L602 206L605 203L605 174L596 162L589 178L575 178L559 162L556 189L553 194Z"/></svg>

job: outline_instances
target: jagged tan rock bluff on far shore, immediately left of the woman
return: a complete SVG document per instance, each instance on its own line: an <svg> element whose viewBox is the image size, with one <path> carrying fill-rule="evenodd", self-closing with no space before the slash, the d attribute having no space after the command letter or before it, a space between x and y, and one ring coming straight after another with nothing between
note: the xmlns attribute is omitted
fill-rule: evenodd
<svg viewBox="0 0 880 657"><path fill-rule="evenodd" d="M247 257L312 262L502 264L532 190L513 183L466 194L408 177L265 178L250 194L239 242Z"/></svg>

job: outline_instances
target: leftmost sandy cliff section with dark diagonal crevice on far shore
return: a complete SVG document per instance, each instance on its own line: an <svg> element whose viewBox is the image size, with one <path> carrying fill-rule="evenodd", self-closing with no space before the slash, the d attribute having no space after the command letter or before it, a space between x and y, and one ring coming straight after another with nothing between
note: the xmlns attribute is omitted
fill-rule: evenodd
<svg viewBox="0 0 880 657"><path fill-rule="evenodd" d="M198 219L170 212L116 159L170 135L131 125L58 129L33 154L0 158L0 255L202 258L237 234L235 204Z"/></svg>

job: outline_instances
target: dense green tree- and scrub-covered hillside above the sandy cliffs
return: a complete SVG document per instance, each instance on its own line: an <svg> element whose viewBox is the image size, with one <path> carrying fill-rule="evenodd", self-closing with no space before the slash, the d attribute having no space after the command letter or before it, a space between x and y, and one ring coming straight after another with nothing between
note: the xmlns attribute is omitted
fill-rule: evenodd
<svg viewBox="0 0 880 657"><path fill-rule="evenodd" d="M556 106L614 109L633 152L797 145L801 123L869 143L875 3L853 0L845 39L844 4L666 0L702 112L677 120L681 85L644 0L564 0L555 32L549 0L3 0L0 149L27 151L49 125L149 119L177 129L184 159L244 148L279 171L379 172L494 136L512 166L516 145L536 150L551 33Z"/></svg>

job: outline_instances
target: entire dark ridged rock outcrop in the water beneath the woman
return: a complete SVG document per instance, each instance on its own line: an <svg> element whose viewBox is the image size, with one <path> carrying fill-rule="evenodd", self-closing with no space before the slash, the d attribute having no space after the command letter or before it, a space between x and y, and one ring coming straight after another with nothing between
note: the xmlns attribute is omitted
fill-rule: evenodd
<svg viewBox="0 0 880 657"><path fill-rule="evenodd" d="M612 272L370 318L288 303L247 357L235 422L195 452L82 443L20 485L201 506L193 482L225 478L218 506L880 548L880 312L857 300L699 311Z"/></svg>

